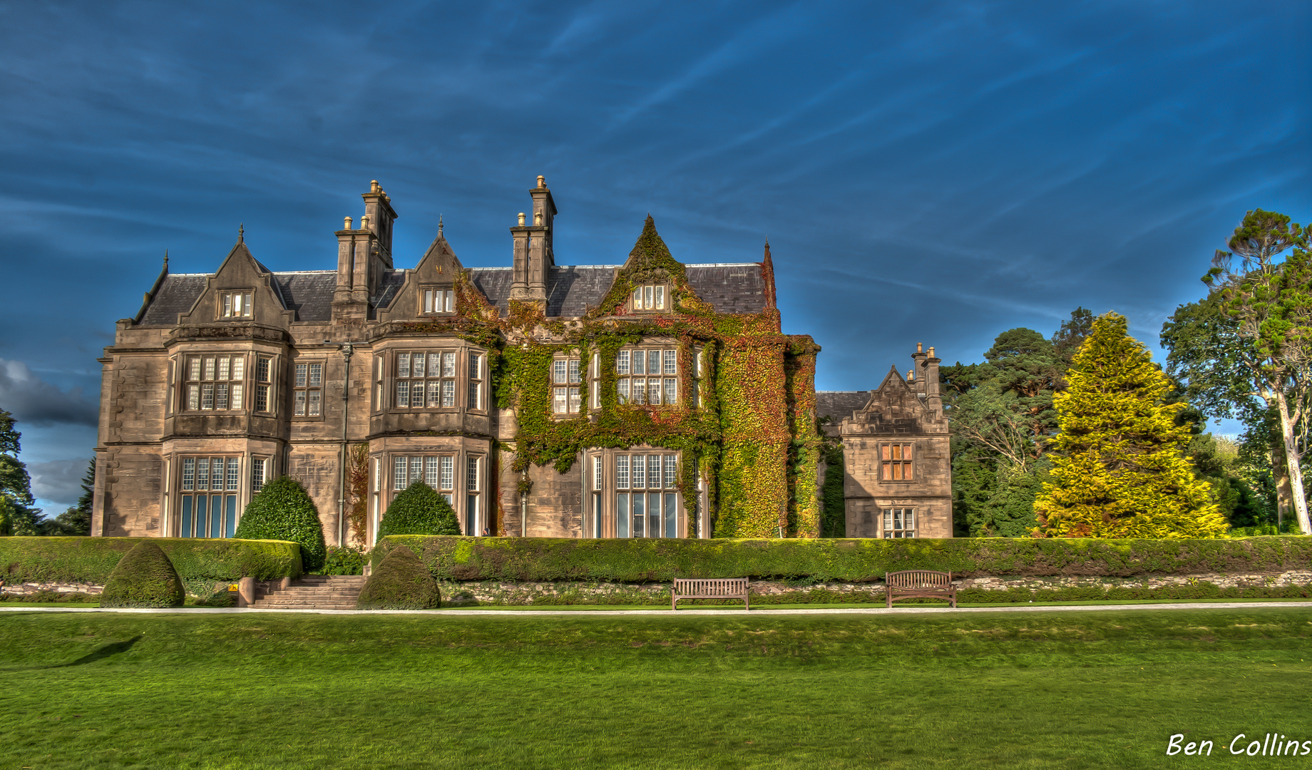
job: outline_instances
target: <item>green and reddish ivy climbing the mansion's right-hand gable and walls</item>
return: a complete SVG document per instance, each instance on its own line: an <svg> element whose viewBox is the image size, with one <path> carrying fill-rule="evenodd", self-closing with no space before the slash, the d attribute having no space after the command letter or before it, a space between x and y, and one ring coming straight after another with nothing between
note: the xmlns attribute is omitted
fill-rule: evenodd
<svg viewBox="0 0 1312 770"><path fill-rule="evenodd" d="M719 314L691 289L684 265L670 256L648 216L610 291L583 317L548 319L541 303L517 300L501 315L464 272L457 278L457 317L407 321L404 328L454 333L488 349L493 399L516 420L513 438L502 434L500 442L513 458L509 470L521 479L516 492L533 495L525 474L530 466L565 474L589 447L664 447L682 453L686 510L697 510L695 474L706 480L708 534L813 538L820 534L815 424L820 348L808 336L781 333L769 252L761 270L765 310ZM670 287L672 312L631 312L634 287L652 283ZM653 338L678 350L678 404L618 403L617 353ZM558 354L577 355L585 370L598 355L600 411L586 408L592 383L584 376L581 413L568 418L552 413L551 362ZM541 471L534 475L541 477ZM499 500L509 505L513 497ZM508 513L499 513L496 531L520 534L514 527L506 531Z"/></svg>

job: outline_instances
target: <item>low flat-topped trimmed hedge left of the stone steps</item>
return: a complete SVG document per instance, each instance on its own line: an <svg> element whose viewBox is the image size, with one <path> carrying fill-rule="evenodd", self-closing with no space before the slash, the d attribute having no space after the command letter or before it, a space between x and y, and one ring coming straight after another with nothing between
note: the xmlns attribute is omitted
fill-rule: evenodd
<svg viewBox="0 0 1312 770"><path fill-rule="evenodd" d="M123 555L146 540L168 555L188 593L202 598L216 582L300 577L300 547L286 540L0 538L0 580L104 585Z"/></svg>

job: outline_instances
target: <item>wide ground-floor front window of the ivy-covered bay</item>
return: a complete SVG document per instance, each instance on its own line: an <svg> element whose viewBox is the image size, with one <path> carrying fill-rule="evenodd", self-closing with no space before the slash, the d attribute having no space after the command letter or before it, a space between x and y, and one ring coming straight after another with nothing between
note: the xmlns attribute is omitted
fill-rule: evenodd
<svg viewBox="0 0 1312 770"><path fill-rule="evenodd" d="M615 537L678 537L678 455L615 455Z"/></svg>

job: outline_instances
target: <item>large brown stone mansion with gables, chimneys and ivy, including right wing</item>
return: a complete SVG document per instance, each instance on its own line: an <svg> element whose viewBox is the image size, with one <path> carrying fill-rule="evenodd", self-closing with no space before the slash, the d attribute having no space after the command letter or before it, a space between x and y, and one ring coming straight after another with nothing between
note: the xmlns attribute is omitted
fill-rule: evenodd
<svg viewBox="0 0 1312 770"><path fill-rule="evenodd" d="M464 268L441 224L396 266L391 198L362 197L333 270L270 270L240 237L214 273L165 260L100 359L92 534L230 538L289 475L329 544L371 544L415 481L467 535L819 537L821 474L842 472L828 534L951 537L934 349L872 391L817 394L820 346L781 332L769 245L685 265L648 216L622 264L560 265L538 177L510 266Z"/></svg>

